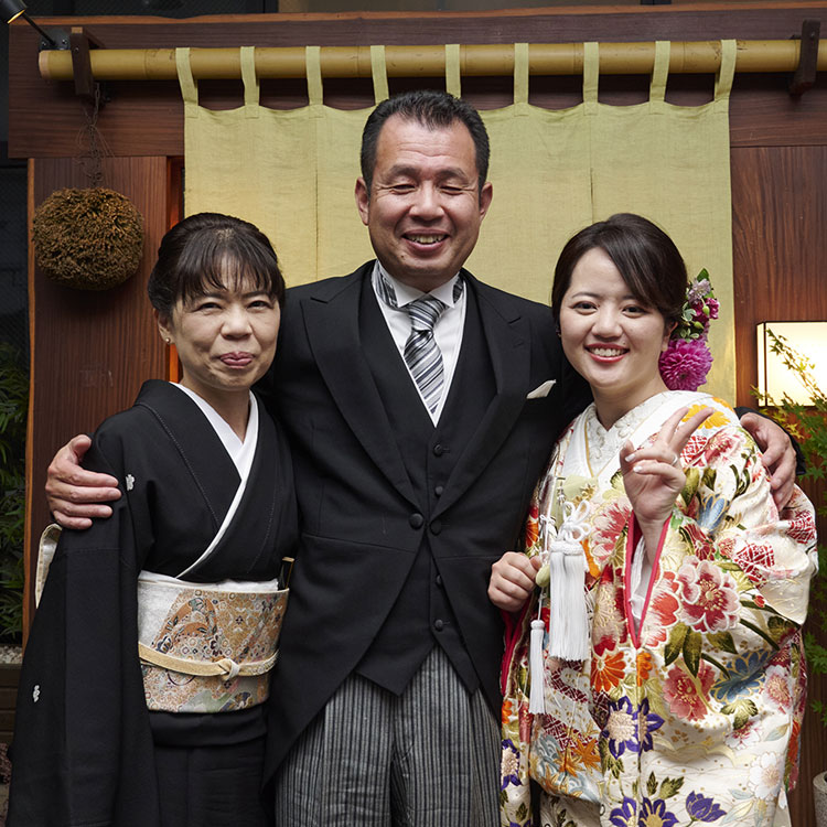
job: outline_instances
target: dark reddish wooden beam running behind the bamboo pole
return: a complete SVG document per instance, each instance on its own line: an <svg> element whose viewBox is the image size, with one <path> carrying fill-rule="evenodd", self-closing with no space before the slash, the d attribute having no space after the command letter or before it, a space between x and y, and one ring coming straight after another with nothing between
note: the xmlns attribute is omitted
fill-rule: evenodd
<svg viewBox="0 0 827 827"><path fill-rule="evenodd" d="M743 6L743 8L742 8ZM87 18L85 31L111 49L191 46L369 45L419 43L578 42L584 40L652 41L784 39L801 31L802 19L827 13L827 4L784 4L760 8L738 3L726 11L710 4L630 7L617 10L545 9L514 12L421 14L284 14L161 20L158 18ZM50 20L65 24L65 20ZM67 157L76 152L75 136L83 112L67 83L47 83L36 71L37 37L26 26L10 32L9 151L19 158ZM712 78L674 76L668 99L695 106L711 97ZM391 92L421 80L391 82ZM183 154L181 96L174 82L114 84L111 104L98 126L115 155ZM373 104L369 82L324 84L325 101L345 109ZM577 78L533 78L531 103L562 108L578 103ZM631 89L631 90L630 90ZM601 80L606 103L638 103L645 78ZM216 109L238 106L240 83L201 84L202 101ZM511 103L509 78L463 78L463 94L487 109ZM307 104L302 80L265 82L265 106L293 108ZM758 117L760 109L760 118ZM803 98L790 98L780 75L739 75L731 98L731 135L735 147L816 146L827 141L827 87L814 87Z"/></svg>

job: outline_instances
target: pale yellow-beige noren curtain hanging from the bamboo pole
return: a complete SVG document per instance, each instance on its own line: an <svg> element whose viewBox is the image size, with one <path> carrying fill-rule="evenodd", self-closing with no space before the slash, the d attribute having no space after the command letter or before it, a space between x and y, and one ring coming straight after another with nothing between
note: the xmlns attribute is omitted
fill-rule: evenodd
<svg viewBox="0 0 827 827"><path fill-rule="evenodd" d="M583 103L565 110L528 104L528 46L515 45L514 104L482 112L491 137L494 200L468 267L488 283L548 301L557 254L578 229L615 212L659 224L690 277L706 267L721 303L712 324L707 389L734 399L734 315L729 173L729 92L734 41L722 43L713 98L699 107L664 100L669 43L656 49L649 99L598 100L599 44L587 43ZM372 47L376 100L387 97L383 46ZM459 46L445 46L445 88L461 93ZM309 106L259 106L254 50L241 49L244 106L198 106L189 50L176 53L185 112L186 214L216 211L257 224L272 240L288 283L355 269L373 254L354 202L369 110L324 106L318 46L307 49Z"/></svg>

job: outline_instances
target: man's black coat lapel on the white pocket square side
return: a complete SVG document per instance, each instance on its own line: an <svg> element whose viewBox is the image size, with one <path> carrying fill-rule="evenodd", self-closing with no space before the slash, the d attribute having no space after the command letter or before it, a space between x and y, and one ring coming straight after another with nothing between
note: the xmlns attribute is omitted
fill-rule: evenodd
<svg viewBox="0 0 827 827"><path fill-rule="evenodd" d="M516 305L492 301L491 288L470 273L476 293L485 341L494 369L496 394L465 445L432 516L438 516L472 485L507 438L525 404L530 363L530 331ZM455 378L455 377L454 377Z"/></svg>

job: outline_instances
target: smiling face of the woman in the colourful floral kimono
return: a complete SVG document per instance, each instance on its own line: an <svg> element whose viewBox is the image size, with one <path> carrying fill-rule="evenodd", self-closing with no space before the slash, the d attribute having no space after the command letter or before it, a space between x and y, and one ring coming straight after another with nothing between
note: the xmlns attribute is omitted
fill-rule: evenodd
<svg viewBox="0 0 827 827"><path fill-rule="evenodd" d="M560 307L560 335L569 362L591 386L601 421L601 402L614 420L666 389L657 367L669 341L664 316L632 296L599 247L574 266Z"/></svg>

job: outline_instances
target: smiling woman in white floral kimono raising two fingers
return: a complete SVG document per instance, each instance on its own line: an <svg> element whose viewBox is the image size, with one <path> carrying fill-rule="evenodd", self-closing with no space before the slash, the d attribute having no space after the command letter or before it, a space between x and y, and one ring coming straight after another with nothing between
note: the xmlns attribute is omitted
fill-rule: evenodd
<svg viewBox="0 0 827 827"><path fill-rule="evenodd" d="M814 513L796 488L778 514L726 402L667 389L686 290L677 248L640 216L560 255L552 308L594 402L555 448L525 554L492 571L514 613L504 827L537 825L529 780L544 827L788 824Z"/></svg>

